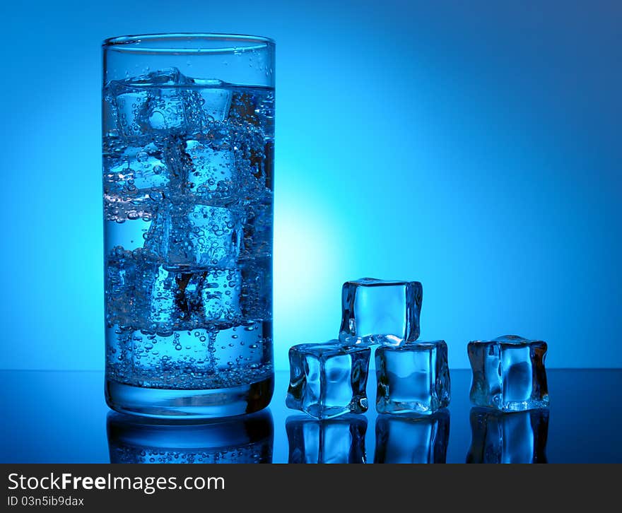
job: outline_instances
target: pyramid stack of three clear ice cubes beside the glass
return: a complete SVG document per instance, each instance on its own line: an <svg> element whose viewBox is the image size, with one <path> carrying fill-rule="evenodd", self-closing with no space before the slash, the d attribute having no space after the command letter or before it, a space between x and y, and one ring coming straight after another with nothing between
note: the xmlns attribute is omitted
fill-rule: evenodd
<svg viewBox="0 0 622 513"><path fill-rule="evenodd" d="M367 411L370 346L378 413L429 415L450 402L447 344L422 342L418 281L361 278L344 283L339 340L289 351L287 406L316 418Z"/></svg>

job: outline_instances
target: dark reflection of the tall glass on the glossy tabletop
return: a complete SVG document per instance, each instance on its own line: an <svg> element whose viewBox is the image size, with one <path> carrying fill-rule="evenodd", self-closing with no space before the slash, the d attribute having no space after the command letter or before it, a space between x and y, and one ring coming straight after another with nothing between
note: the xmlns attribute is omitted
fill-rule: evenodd
<svg viewBox="0 0 622 513"><path fill-rule="evenodd" d="M110 463L271 463L269 409L209 422L159 420L110 412Z"/></svg>

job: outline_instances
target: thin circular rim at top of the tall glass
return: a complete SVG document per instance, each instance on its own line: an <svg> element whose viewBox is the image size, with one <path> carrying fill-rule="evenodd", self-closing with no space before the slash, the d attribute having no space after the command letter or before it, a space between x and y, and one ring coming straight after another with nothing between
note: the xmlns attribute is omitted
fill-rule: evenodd
<svg viewBox="0 0 622 513"><path fill-rule="evenodd" d="M148 45L150 41L157 42L157 45ZM187 45L188 42L196 44ZM199 45L199 42L204 42L204 45ZM210 47L210 42L230 42L231 45ZM142 43L146 45L143 46ZM183 46L184 43L186 47ZM234 54L252 52L274 45L273 39L261 35L183 32L119 35L108 37L102 42L102 47L106 50L132 54Z"/></svg>

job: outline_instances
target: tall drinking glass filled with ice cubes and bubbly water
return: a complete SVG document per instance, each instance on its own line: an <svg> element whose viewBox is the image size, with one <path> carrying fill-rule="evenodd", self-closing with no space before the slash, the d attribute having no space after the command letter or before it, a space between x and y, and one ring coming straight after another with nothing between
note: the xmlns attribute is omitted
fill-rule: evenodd
<svg viewBox="0 0 622 513"><path fill-rule="evenodd" d="M106 401L152 417L260 410L274 387L274 42L103 45Z"/></svg>

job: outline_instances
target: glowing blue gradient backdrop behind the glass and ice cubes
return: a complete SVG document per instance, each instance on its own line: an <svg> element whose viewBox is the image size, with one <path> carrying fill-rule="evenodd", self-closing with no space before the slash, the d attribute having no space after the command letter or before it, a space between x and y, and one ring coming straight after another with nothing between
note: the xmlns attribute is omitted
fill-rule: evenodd
<svg viewBox="0 0 622 513"><path fill-rule="evenodd" d="M622 4L498 4L5 6L0 368L102 368L100 41L173 31L277 42L278 368L360 276L423 282L452 367L505 333L621 367Z"/></svg>

